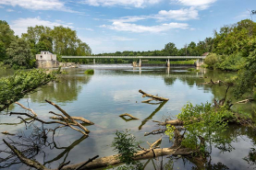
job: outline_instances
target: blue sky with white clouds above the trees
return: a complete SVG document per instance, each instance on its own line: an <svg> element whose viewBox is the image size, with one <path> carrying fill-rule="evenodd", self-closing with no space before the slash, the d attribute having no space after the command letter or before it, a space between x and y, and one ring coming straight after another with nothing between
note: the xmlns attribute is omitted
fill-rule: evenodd
<svg viewBox="0 0 256 170"><path fill-rule="evenodd" d="M0 20L19 37L28 27L77 31L94 54L177 48L250 18L256 0L0 0ZM252 16L256 21L256 15Z"/></svg>

